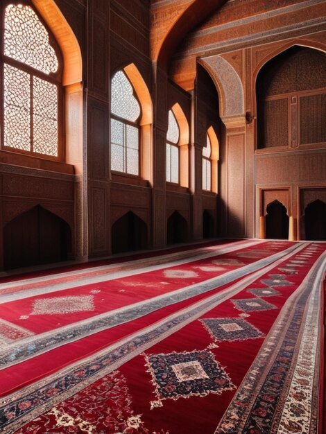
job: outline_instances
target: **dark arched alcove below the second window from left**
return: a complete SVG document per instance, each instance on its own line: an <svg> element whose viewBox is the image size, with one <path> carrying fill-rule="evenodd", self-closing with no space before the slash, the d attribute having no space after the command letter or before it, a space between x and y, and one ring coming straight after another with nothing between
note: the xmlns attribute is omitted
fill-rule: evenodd
<svg viewBox="0 0 326 434"><path fill-rule="evenodd" d="M147 225L132 211L128 211L112 225L111 235L112 253L148 248Z"/></svg>

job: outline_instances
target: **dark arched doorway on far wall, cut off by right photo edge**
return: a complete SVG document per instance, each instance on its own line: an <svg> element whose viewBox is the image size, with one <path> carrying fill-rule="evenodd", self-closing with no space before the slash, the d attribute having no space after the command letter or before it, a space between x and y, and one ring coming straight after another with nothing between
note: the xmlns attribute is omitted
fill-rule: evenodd
<svg viewBox="0 0 326 434"><path fill-rule="evenodd" d="M304 211L304 229L307 240L326 240L326 203L314 200Z"/></svg>

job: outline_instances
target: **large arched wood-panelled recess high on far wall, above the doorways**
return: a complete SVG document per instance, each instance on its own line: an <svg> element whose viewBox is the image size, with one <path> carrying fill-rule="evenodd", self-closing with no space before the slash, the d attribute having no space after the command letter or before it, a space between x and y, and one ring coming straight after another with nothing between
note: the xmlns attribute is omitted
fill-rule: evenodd
<svg viewBox="0 0 326 434"><path fill-rule="evenodd" d="M326 141L326 53L293 45L257 74L257 148Z"/></svg>

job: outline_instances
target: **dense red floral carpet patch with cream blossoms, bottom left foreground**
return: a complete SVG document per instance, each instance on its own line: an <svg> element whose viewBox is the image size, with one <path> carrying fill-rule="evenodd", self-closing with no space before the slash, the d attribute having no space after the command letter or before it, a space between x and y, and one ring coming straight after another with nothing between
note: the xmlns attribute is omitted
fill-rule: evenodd
<svg viewBox="0 0 326 434"><path fill-rule="evenodd" d="M88 386L51 408L38 417L33 424L21 428L19 433L139 433L149 431L135 415L126 378L119 371L104 376L92 386ZM162 432L161 432L162 433ZM164 433L162 433L164 434Z"/></svg>

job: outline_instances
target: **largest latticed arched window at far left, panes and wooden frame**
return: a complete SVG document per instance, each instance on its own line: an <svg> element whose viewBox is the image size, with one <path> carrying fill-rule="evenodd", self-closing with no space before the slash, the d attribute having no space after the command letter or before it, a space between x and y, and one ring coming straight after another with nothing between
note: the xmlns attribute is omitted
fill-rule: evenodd
<svg viewBox="0 0 326 434"><path fill-rule="evenodd" d="M2 148L62 159L61 54L28 2L6 6L1 46Z"/></svg>

